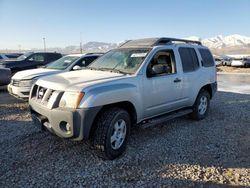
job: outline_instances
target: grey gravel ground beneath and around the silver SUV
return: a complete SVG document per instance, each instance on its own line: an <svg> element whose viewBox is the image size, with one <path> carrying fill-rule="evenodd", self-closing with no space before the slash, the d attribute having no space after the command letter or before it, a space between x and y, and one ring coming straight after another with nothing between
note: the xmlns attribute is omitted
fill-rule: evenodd
<svg viewBox="0 0 250 188"><path fill-rule="evenodd" d="M250 187L250 95L218 92L209 116L133 129L124 156L41 132L0 92L0 187Z"/></svg>

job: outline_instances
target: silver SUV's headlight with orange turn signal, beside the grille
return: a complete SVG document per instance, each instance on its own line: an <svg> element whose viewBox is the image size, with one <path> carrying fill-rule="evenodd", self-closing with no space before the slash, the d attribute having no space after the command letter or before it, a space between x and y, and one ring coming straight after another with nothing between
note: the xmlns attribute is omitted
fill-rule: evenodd
<svg viewBox="0 0 250 188"><path fill-rule="evenodd" d="M83 92L64 92L59 107L77 108L84 96Z"/></svg>

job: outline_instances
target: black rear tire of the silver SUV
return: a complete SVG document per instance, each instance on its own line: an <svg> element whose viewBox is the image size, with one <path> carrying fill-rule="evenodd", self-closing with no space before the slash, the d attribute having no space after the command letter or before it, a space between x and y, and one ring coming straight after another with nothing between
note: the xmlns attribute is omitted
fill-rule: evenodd
<svg viewBox="0 0 250 188"><path fill-rule="evenodd" d="M206 105L205 105L205 101L202 101L204 98L206 98ZM203 102L203 105L201 104ZM202 110L199 108L199 106L206 106L206 110L205 108L202 108ZM202 89L197 98L196 101L193 105L193 112L190 114L190 117L194 120L202 120L204 119L209 111L209 107L210 107L210 95L209 93Z"/></svg>

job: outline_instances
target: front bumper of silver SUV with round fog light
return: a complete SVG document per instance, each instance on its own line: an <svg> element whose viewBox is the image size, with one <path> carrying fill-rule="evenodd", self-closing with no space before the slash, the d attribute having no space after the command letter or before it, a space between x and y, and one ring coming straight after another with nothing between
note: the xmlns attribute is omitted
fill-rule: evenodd
<svg viewBox="0 0 250 188"><path fill-rule="evenodd" d="M73 140L88 139L91 127L101 107L85 109L52 108L29 100L30 111L34 123L40 128L47 128L50 132L62 138ZM65 125L67 124L67 130Z"/></svg>

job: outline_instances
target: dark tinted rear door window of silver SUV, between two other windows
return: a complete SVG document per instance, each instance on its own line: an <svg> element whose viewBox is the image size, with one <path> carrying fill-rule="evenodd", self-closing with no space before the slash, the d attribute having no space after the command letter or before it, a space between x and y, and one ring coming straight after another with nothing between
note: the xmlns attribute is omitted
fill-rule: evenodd
<svg viewBox="0 0 250 188"><path fill-rule="evenodd" d="M193 48L179 48L183 72L192 72L199 68L197 54Z"/></svg>

